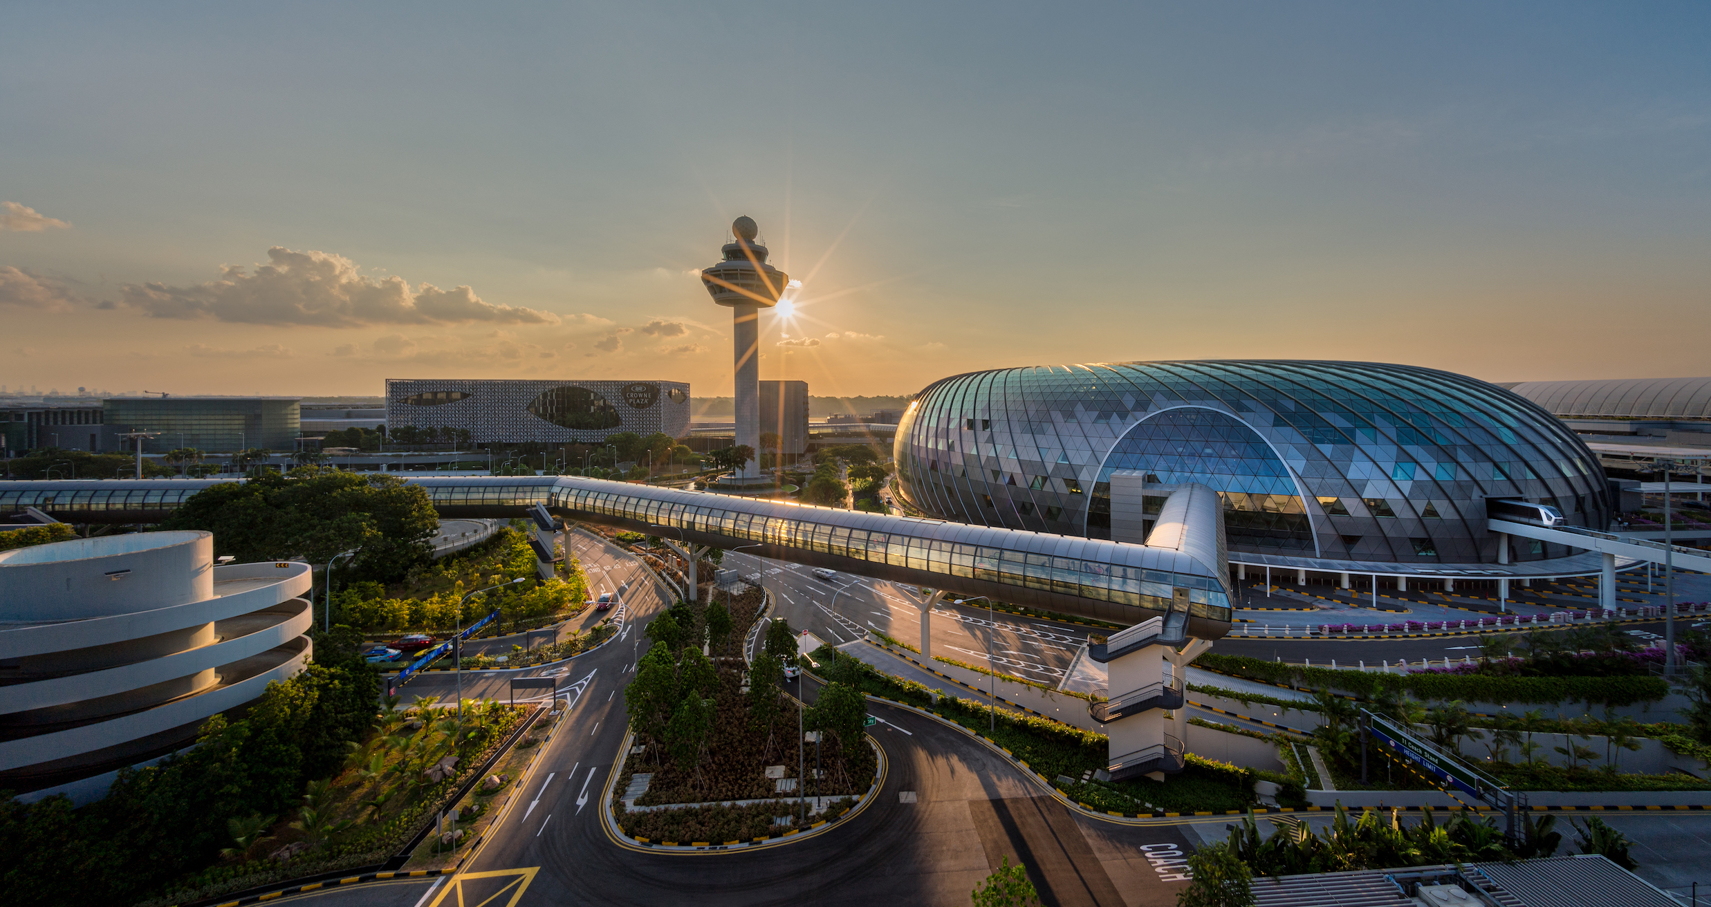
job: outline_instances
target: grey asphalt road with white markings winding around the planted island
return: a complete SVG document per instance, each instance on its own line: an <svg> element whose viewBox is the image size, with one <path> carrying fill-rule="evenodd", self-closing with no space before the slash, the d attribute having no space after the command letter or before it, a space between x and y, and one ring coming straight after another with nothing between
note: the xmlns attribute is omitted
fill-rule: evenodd
<svg viewBox="0 0 1711 907"><path fill-rule="evenodd" d="M1184 885L1165 878L1174 874L1169 861L1181 859L1201 840L1220 839L1228 821L1225 816L1148 825L1093 820L1044 796L1016 767L968 734L902 707L869 703L869 714L883 719L874 726L873 738L886 758L885 782L866 809L835 830L751 852L664 854L619 847L601 818L601 799L625 734L625 700L619 693L640 652L642 626L667 601L614 546L578 539L578 554L590 577L599 577L601 589L628 584L626 628L614 642L568 666L515 673L558 673L563 678L559 695L570 710L541 758L518 780L520 796L503 808L494 830L460 876L335 888L281 902L440 907L493 898L494 905L527 907L652 905L693 895L708 907L804 900L862 907L873 902L965 904L974 885L1009 857L1028 866L1045 904L1162 907L1175 904ZM881 618L898 619L907 614L905 608L914 611L902 604L897 613L888 613L888 606L897 602L886 599L895 590L885 584L854 584L838 596L838 618L833 618L830 602L820 604L828 596L811 590L811 584L820 580L779 565L767 570L773 566L779 573L768 575L768 585L779 592L780 613L794 613L792 625L825 631L828 640L837 638L840 630L849 637L844 621L856 616L845 611L845 601L871 606L862 619L871 618L881 628L895 626L881 623ZM950 642L991 633L1009 645L1016 661L1032 659L1030 664L1051 667L1064 657L1049 645L1068 645L1068 640L1044 633L1069 635L1069 625L999 619L1008 626L994 628L970 623L984 619L984 611L955 606L948 611L956 614L956 619L943 621ZM900 630L912 626L900 623ZM1086 628L1073 631L1085 638ZM934 637L938 645L938 631ZM503 697L508 676L469 673L465 695ZM445 695L450 683L447 674L431 674L406 691L412 697ZM802 695L813 698L814 693L816 685L809 681ZM1672 842L1682 835L1680 828L1665 821L1696 823L1689 835L1706 832L1696 816L1620 818L1634 823L1629 833L1636 840L1656 840L1660 852L1678 851ZM1163 861L1163 866L1155 868L1148 857Z"/></svg>

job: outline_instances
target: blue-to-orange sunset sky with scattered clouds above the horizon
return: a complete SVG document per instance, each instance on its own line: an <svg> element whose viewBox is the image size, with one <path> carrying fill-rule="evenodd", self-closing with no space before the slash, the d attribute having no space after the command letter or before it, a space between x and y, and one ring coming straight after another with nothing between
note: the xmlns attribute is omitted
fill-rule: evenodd
<svg viewBox="0 0 1711 907"><path fill-rule="evenodd" d="M1711 375L1711 7L9 3L0 385Z"/></svg>

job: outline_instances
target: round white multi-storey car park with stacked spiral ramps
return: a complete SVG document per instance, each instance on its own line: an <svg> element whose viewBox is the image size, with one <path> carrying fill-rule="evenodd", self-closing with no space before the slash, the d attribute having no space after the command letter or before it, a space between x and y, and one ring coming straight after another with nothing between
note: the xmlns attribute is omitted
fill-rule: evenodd
<svg viewBox="0 0 1711 907"><path fill-rule="evenodd" d="M0 551L0 787L99 796L186 746L303 669L308 590L306 563L216 565L209 532Z"/></svg>

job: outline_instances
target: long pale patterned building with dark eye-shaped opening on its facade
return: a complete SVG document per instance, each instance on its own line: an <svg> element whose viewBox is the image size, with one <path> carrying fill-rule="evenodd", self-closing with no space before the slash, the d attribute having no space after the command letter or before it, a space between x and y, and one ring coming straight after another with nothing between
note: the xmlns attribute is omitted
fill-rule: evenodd
<svg viewBox="0 0 1711 907"><path fill-rule="evenodd" d="M387 378L387 430L462 428L477 445L690 433L684 382Z"/></svg>

